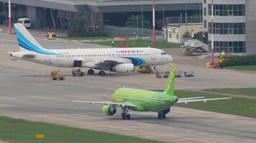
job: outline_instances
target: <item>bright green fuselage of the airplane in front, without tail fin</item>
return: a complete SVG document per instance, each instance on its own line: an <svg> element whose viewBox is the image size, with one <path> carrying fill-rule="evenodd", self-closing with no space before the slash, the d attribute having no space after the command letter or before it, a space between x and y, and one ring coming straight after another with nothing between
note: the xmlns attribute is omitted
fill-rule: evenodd
<svg viewBox="0 0 256 143"><path fill-rule="evenodd" d="M131 110L138 112L161 112L170 109L178 101L178 97L165 92L121 88L114 92L112 101L133 104L136 108L131 108Z"/></svg>

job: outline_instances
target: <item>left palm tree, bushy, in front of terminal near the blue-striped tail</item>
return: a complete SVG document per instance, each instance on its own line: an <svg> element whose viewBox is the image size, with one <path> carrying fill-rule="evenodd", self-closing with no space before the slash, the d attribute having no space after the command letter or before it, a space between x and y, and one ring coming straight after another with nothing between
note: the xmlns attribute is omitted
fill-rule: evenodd
<svg viewBox="0 0 256 143"><path fill-rule="evenodd" d="M86 19L83 19L83 17L73 19L68 30L68 36L88 36L89 34L88 21Z"/></svg>

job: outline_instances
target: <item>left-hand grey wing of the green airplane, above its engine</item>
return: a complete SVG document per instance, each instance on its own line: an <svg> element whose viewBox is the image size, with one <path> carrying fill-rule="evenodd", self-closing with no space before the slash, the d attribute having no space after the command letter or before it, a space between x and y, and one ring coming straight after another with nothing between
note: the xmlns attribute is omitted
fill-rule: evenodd
<svg viewBox="0 0 256 143"><path fill-rule="evenodd" d="M118 103L118 102L93 102L93 101L83 101L83 100L72 100L72 102L89 103L89 104L105 104L105 105L115 106L115 107L133 107L133 108L136 108L135 105L129 104L129 103Z"/></svg>

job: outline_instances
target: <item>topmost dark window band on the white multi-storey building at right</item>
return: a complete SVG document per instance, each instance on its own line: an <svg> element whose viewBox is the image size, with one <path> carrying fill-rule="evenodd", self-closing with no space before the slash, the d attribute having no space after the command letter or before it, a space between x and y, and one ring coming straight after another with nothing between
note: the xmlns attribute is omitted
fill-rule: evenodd
<svg viewBox="0 0 256 143"><path fill-rule="evenodd" d="M244 4L214 4L214 16L244 16ZM208 4L208 14L211 16L211 4Z"/></svg>

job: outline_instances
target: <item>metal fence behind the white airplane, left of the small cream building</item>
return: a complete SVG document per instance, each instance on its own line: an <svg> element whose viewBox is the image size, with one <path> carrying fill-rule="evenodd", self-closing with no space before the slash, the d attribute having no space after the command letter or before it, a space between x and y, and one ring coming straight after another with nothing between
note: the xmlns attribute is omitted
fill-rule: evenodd
<svg viewBox="0 0 256 143"><path fill-rule="evenodd" d="M137 39L152 39L152 29L141 29L132 27L119 27L119 26L104 26L104 31L109 36L125 36L127 38L137 38ZM157 40L163 39L163 32L160 30L155 31L155 36Z"/></svg>

